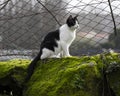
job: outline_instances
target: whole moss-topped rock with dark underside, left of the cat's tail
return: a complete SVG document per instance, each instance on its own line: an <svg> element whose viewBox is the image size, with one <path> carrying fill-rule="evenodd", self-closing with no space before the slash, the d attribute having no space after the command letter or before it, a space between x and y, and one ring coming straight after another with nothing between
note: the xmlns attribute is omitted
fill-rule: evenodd
<svg viewBox="0 0 120 96"><path fill-rule="evenodd" d="M22 96L22 84L30 60L0 62L0 96Z"/></svg>

